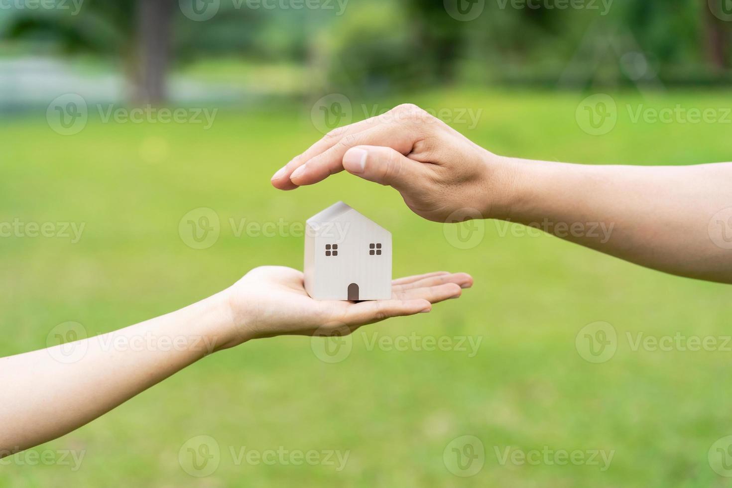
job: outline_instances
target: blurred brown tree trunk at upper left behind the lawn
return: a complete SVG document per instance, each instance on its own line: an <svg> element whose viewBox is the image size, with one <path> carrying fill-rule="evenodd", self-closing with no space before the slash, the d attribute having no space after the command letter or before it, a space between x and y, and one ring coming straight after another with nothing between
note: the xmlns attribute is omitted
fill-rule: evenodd
<svg viewBox="0 0 732 488"><path fill-rule="evenodd" d="M159 105L165 102L165 81L171 56L171 24L176 3L173 0L138 0L141 75L135 96L138 103Z"/></svg>

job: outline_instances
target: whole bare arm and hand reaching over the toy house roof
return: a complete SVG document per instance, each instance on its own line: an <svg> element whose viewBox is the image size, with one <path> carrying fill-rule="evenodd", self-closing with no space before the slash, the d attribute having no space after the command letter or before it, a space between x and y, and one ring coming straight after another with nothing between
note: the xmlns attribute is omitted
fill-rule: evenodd
<svg viewBox="0 0 732 488"><path fill-rule="evenodd" d="M501 157L407 104L329 132L272 184L296 189L341 170L395 188L435 222L518 222L648 268L732 283L730 162L638 167Z"/></svg>

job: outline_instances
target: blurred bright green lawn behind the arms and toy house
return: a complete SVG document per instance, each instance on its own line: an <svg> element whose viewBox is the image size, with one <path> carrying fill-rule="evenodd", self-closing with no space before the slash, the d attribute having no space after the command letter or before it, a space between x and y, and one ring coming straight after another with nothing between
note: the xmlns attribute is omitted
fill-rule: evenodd
<svg viewBox="0 0 732 488"><path fill-rule="evenodd" d="M624 103L719 108L728 94L673 92ZM621 110L610 134L580 130L583 96L444 90L411 101L425 108L482 109L479 125L454 127L498 153L592 164L685 165L729 159L724 124L633 124ZM358 110L356 110L358 111ZM392 231L394 274L468 271L475 286L428 315L362 329L397 337L482 337L479 353L367 350L361 334L338 364L318 360L310 340L283 337L217 353L91 424L37 448L83 449L81 470L5 462L5 486L332 487L710 487L726 486L707 462L732 433L729 352L630 350L634 335L725 336L729 288L641 269L548 236L485 238L456 249L441 225L403 206L392 189L339 174L315 187L277 192L269 177L318 132L310 107L221 110L211 129L192 124L102 124L61 136L45 113L2 121L0 222L86 222L67 239L0 239L0 356L41 348L58 323L89 334L118 329L208 296L254 266L302 267L302 239L234 236L240 222L302 222L346 200ZM649 189L651 191L652 189ZM619 195L622 198L622 195ZM221 220L213 247L179 237L187 211ZM590 364L575 350L588 323L613 324L616 356ZM12 375L12 371L3 371ZM29 385L32 388L33 385ZM192 478L182 444L210 435L217 471ZM475 435L485 466L453 476L443 450ZM350 450L346 469L235 465L228 446ZM500 465L494 446L524 451L614 450L597 466Z"/></svg>

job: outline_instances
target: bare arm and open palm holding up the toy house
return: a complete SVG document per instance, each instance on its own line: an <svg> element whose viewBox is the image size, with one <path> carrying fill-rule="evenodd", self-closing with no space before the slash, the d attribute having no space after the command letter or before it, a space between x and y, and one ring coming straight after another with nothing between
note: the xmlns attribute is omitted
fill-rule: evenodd
<svg viewBox="0 0 732 488"><path fill-rule="evenodd" d="M78 429L209 353L261 337L343 336L387 318L430 312L432 304L456 299L472 284L468 274L438 271L395 279L390 300L315 301L300 271L264 266L176 312L1 358L0 371L13 374L4 376L0 390L0 457ZM134 342L149 337L154 340ZM113 346L118 343L123 346Z"/></svg>

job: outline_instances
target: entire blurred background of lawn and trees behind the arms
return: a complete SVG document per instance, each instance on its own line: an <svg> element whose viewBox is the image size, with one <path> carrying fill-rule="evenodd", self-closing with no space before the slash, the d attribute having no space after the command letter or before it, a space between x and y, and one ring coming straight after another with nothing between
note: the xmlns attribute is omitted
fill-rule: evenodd
<svg viewBox="0 0 732 488"><path fill-rule="evenodd" d="M269 178L403 102L508 156L729 161L731 42L729 0L2 2L0 356L302 268L302 223L337 200L392 231L395 276L475 286L327 350L217 353L2 459L0 485L730 486L724 285L504 222L425 222L347 174L295 192ZM652 346L665 337L717 342ZM293 461L308 451L332 464Z"/></svg>

